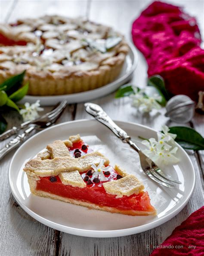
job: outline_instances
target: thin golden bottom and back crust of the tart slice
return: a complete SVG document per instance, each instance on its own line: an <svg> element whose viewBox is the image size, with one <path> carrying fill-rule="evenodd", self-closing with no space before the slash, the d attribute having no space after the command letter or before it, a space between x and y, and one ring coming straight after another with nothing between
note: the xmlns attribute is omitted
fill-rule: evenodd
<svg viewBox="0 0 204 256"><path fill-rule="evenodd" d="M34 195L38 195L41 197L46 197L46 198L50 198L50 199L55 199L55 200L59 200L62 202L67 202L67 203L71 203L74 205L80 205L83 207L87 207L90 209L94 209L94 210L100 210L100 211L108 211L111 213L120 213L120 214L126 214L126 215L132 215L132 216L138 216L138 215L156 215L157 212L155 211L135 211L135 210L122 210L122 209L117 209L114 207L107 207L107 206L99 206L90 202L83 202L80 200L75 200L75 199L71 199L71 198L64 198L62 196L59 195L54 195L48 192L44 192L41 190L36 190L36 179L32 176L29 176L29 174L27 173L28 176L28 183L30 185L30 189L31 189L31 193Z"/></svg>

